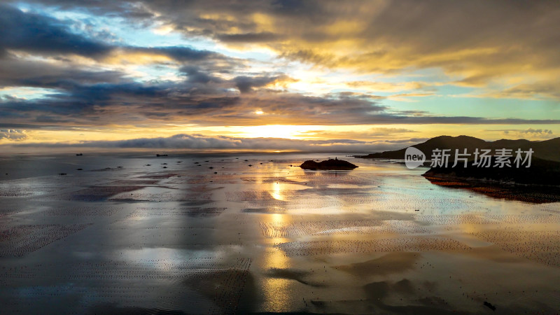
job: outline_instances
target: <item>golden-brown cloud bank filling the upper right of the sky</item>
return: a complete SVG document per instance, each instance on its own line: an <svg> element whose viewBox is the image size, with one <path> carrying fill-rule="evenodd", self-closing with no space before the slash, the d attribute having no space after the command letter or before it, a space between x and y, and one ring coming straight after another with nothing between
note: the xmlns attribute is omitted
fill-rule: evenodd
<svg viewBox="0 0 560 315"><path fill-rule="evenodd" d="M158 22L232 45L258 43L332 68L395 73L440 67L458 78L455 84L468 86L528 71L549 85L544 97L557 99L553 91L560 87L558 1L36 2L124 16L134 24ZM535 89L542 83L500 95L534 97Z"/></svg>

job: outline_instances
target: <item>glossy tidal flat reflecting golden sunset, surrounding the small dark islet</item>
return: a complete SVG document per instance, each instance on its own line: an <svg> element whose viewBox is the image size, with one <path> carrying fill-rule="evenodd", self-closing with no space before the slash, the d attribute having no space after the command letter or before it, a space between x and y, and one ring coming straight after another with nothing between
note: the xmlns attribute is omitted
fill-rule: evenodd
<svg viewBox="0 0 560 315"><path fill-rule="evenodd" d="M359 167L297 167L335 157ZM559 313L557 198L423 172L333 153L0 157L0 314Z"/></svg>

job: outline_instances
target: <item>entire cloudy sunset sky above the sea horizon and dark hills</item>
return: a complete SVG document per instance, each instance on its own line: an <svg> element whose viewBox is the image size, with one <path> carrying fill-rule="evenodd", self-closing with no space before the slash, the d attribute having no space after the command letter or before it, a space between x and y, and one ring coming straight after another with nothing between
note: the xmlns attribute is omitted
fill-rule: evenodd
<svg viewBox="0 0 560 315"><path fill-rule="evenodd" d="M558 1L2 1L0 151L560 137Z"/></svg>

